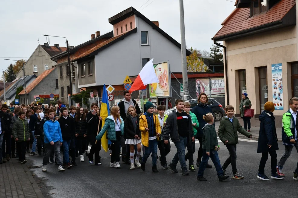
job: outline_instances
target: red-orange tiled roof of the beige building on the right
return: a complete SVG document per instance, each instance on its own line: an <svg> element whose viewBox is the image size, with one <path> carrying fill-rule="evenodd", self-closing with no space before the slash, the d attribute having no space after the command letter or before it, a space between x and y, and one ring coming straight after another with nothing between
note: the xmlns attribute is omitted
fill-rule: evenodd
<svg viewBox="0 0 298 198"><path fill-rule="evenodd" d="M215 34L214 38L279 21L294 5L295 0L280 0L268 12L255 17L250 17L250 8L237 8L235 13L225 20L223 27Z"/></svg>

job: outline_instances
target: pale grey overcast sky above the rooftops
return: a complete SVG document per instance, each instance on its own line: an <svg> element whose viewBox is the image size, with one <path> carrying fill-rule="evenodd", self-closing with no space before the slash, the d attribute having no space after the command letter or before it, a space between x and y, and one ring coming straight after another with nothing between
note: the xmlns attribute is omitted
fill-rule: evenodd
<svg viewBox="0 0 298 198"><path fill-rule="evenodd" d="M184 0L187 47L209 51L211 38L235 8L235 0L230 1ZM28 59L38 45L37 39L42 45L46 42L40 34L64 36L70 46L77 46L96 31L107 33L112 30L108 18L131 6L149 20L158 20L162 30L181 41L179 0L1 1L0 68L7 69L15 62L4 59ZM55 43L66 46L63 38L50 37L50 45Z"/></svg>

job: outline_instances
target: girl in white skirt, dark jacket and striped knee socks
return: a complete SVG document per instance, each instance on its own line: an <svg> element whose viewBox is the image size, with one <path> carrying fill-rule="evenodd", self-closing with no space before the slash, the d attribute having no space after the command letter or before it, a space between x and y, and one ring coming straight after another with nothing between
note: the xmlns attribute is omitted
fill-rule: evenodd
<svg viewBox="0 0 298 198"><path fill-rule="evenodd" d="M135 164L141 167L140 156L141 156L141 131L139 130L139 116L136 113L134 106L128 108L129 115L124 121L124 138L125 144L129 144L130 148L130 169L134 168L134 145L137 145L137 157Z"/></svg>

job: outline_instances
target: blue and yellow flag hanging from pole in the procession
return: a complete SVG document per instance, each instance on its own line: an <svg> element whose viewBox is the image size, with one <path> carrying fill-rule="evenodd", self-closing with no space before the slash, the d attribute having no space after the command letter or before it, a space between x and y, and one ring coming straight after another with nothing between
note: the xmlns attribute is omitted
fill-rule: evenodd
<svg viewBox="0 0 298 198"><path fill-rule="evenodd" d="M103 91L102 91L102 104L101 104L100 115L99 115L100 117L102 117L102 127L105 124L105 118L107 118L109 115L110 115L109 100L108 100L107 90L106 90L105 84L104 84ZM102 136L101 142L102 142L102 148L105 149L105 152L107 152L108 151L108 139L107 139L106 134L104 134Z"/></svg>

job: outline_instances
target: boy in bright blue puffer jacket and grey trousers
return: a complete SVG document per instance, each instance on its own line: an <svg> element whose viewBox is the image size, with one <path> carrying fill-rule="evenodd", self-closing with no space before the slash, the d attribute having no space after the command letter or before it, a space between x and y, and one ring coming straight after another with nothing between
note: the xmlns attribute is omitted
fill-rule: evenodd
<svg viewBox="0 0 298 198"><path fill-rule="evenodd" d="M55 153L58 171L64 171L62 168L62 159L60 153L60 146L62 146L62 134L60 124L54 120L55 112L53 109L48 110L49 120L44 123L44 159L42 162L42 171L47 171L47 164L52 152Z"/></svg>

